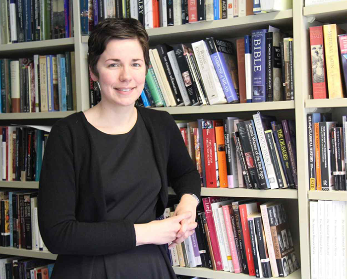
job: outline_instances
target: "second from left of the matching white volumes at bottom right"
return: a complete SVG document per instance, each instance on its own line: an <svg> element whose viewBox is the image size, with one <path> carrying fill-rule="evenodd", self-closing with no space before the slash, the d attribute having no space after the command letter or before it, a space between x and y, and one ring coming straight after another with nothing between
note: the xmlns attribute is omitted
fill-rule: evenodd
<svg viewBox="0 0 347 279"><path fill-rule="evenodd" d="M318 201L318 279L325 279L325 201Z"/></svg>

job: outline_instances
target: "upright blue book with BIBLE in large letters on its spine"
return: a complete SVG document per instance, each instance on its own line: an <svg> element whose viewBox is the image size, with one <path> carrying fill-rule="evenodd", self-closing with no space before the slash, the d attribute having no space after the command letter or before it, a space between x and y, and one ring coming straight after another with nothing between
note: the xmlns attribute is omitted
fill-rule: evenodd
<svg viewBox="0 0 347 279"><path fill-rule="evenodd" d="M267 29L252 31L252 102L266 102L266 41Z"/></svg>

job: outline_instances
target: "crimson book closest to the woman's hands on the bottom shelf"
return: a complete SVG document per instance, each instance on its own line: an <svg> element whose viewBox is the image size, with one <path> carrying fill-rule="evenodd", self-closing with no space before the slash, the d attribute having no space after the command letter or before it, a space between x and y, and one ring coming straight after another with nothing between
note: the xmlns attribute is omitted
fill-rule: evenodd
<svg viewBox="0 0 347 279"><path fill-rule="evenodd" d="M215 203L215 202L221 202L225 199L227 199L227 198L208 197L208 198L202 199L202 203L204 205L204 210L205 210L205 215L206 215L206 223L207 223L208 230L210 233L213 257L214 257L214 260L216 263L216 269L217 270L223 270L223 263L222 263L221 251L219 249L219 243L218 243L218 238L217 238L215 222L213 219L211 204Z"/></svg>

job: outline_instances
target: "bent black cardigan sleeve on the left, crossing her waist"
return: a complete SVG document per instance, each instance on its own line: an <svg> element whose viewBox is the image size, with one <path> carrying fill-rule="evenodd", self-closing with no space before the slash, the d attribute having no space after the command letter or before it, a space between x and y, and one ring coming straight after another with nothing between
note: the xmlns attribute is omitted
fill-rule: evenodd
<svg viewBox="0 0 347 279"><path fill-rule="evenodd" d="M81 210L78 208L79 191L86 185L76 181L79 177L76 177L75 169L79 160L74 156L76 144L73 140L67 126L55 125L45 148L38 198L39 227L45 245L54 254L90 256L135 248L134 224L127 220L77 220L76 212ZM93 204L92 199L90 203ZM93 219L95 216L91 216Z"/></svg>

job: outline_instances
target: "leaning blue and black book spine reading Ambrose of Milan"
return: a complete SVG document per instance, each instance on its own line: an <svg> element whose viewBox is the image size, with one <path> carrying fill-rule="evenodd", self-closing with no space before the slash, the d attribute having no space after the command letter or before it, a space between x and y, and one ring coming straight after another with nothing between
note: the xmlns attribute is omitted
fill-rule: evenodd
<svg viewBox="0 0 347 279"><path fill-rule="evenodd" d="M208 39L206 43L228 103L238 103L239 100L230 73L228 71L224 56L217 50L213 38Z"/></svg>

